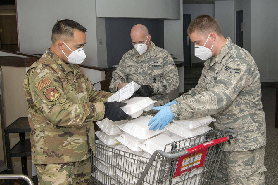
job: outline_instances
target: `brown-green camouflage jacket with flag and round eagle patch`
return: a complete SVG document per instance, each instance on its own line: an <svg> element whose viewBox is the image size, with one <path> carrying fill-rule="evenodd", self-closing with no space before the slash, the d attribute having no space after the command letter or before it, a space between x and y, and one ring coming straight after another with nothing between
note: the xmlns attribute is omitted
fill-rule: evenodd
<svg viewBox="0 0 278 185"><path fill-rule="evenodd" d="M26 72L23 88L28 102L34 164L87 159L95 149L94 120L104 116L111 93L96 91L76 64L66 64L50 48Z"/></svg>

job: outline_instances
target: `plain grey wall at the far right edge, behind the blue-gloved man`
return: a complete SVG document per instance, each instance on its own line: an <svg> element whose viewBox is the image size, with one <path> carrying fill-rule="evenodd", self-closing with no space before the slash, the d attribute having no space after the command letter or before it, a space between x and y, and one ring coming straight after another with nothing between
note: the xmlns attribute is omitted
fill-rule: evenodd
<svg viewBox="0 0 278 185"><path fill-rule="evenodd" d="M278 1L251 1L251 52L262 82L278 81Z"/></svg>

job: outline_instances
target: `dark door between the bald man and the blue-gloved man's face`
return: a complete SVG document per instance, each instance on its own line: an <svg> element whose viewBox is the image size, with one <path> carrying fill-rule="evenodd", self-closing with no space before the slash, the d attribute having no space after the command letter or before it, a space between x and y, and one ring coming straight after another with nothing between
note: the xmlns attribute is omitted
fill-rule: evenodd
<svg viewBox="0 0 278 185"><path fill-rule="evenodd" d="M189 41L189 36L187 35L187 27L191 22L191 14L183 14L183 58L184 66L191 67L191 42Z"/></svg>

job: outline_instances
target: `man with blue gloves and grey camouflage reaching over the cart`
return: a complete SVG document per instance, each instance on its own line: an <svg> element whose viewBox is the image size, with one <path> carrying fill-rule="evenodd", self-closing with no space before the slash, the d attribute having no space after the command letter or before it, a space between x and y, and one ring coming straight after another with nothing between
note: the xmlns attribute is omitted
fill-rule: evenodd
<svg viewBox="0 0 278 185"><path fill-rule="evenodd" d="M208 30L200 31L202 24ZM230 38L225 39L217 25L208 15L198 16L189 25L187 32L195 45L210 49L214 42L213 57L204 63L196 87L175 99L177 103L170 108L175 120L211 115L218 134L225 128L238 132L224 147L215 184L264 184L266 126L260 74L253 57ZM220 33L213 26L219 27Z"/></svg>

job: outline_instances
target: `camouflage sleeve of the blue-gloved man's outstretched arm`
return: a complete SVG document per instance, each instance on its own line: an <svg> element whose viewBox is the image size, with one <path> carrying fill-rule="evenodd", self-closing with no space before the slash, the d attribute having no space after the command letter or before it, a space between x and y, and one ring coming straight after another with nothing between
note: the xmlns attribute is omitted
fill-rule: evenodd
<svg viewBox="0 0 278 185"><path fill-rule="evenodd" d="M185 120L213 115L229 106L244 88L252 72L244 59L234 59L229 62L229 67L240 72L230 75L223 68L207 91L185 100L179 99L177 104L171 106L174 119Z"/></svg>

